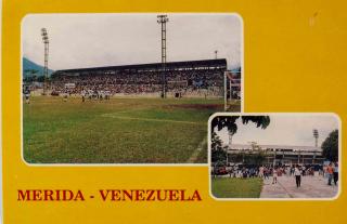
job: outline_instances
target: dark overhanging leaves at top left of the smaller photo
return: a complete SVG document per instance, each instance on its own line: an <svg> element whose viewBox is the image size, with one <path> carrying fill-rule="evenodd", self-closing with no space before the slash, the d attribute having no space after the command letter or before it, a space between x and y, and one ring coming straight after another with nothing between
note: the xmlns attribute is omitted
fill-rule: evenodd
<svg viewBox="0 0 347 224"><path fill-rule="evenodd" d="M240 117L243 124L247 124L252 121L257 128L261 129L266 129L270 124L269 116L218 116L211 120L211 132L214 132L215 128L217 128L218 131L227 128L229 134L235 134L237 132L236 120Z"/></svg>

